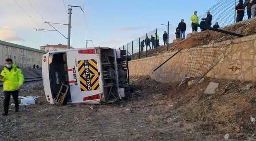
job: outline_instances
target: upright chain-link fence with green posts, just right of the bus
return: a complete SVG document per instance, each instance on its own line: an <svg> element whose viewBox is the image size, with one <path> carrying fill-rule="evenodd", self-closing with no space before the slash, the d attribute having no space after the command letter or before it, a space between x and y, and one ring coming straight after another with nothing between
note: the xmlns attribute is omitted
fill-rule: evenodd
<svg viewBox="0 0 256 141"><path fill-rule="evenodd" d="M127 55L130 55L133 60L153 56L156 54L157 46L159 46L159 35L157 29L150 31L143 36L132 40L132 42L119 47L121 50L126 50Z"/></svg>

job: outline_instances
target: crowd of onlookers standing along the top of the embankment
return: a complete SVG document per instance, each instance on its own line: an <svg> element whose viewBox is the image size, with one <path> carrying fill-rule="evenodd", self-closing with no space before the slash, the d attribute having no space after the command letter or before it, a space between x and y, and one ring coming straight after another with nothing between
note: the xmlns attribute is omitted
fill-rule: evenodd
<svg viewBox="0 0 256 141"><path fill-rule="evenodd" d="M249 18L253 18L256 16L256 0L245 0L245 2L243 2L243 0L239 0L238 4L236 5L235 9L237 10L237 16L236 16L236 22L240 22L243 20L243 17L245 15L245 7L247 8L247 16L248 19ZM192 27L192 33L193 32L197 32L198 31L198 27L193 25L193 24L199 24L199 25L204 25L206 27L211 27L211 20L212 20L212 15L210 14L210 11L208 11L206 18L202 18L200 24L199 24L199 18L197 16L197 11L194 12L194 14L191 16L190 20L192 22L191 27ZM215 24L213 25L212 28L218 29L219 28L219 24L218 22L215 22ZM184 19L181 20L181 22L178 24L178 27L176 28L176 38L186 38L185 34L186 34L186 29L187 29L187 25L184 22ZM206 29L203 27L200 27L200 31L205 31ZM163 34L163 44L167 44L167 33L166 31L164 31ZM150 46L150 43L152 45L152 48ZM145 46L149 46L150 49L154 49L154 47L160 46L159 45L159 36L158 34L155 33L155 37L153 37L151 35L151 38L149 39L148 36L145 40L143 40L141 42L141 51L143 51L143 47Z"/></svg>

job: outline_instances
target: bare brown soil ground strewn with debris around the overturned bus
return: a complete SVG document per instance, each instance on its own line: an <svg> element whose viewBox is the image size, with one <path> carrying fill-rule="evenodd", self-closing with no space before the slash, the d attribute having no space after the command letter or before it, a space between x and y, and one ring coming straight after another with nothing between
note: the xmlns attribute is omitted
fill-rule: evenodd
<svg viewBox="0 0 256 141"><path fill-rule="evenodd" d="M149 76L130 78L139 92L108 105L50 105L41 88L27 91L41 97L18 113L10 106L9 115L0 116L0 140L222 141L227 133L233 141L255 138L249 115L256 116L256 83L205 78L188 89ZM206 95L210 82L219 87Z"/></svg>

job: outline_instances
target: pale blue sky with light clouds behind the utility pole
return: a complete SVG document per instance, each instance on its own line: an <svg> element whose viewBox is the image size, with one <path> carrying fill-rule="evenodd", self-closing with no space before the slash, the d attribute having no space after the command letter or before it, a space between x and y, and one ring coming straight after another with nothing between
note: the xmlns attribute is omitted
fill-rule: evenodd
<svg viewBox="0 0 256 141"><path fill-rule="evenodd" d="M72 7L72 47L85 47L85 40L92 40L93 42L88 41L88 47L119 48L155 29L158 29L160 45L163 44L161 37L168 21L172 25L169 27L169 42L172 42L182 18L187 25L186 34L191 33L190 17L194 11L201 15L218 0L1 1L0 40L40 49L40 46L47 44L67 45L65 37L67 38L68 26L59 24L68 24L68 5L82 6L85 14L84 18L80 8ZM59 23L51 25L65 37L56 31L36 31L35 29L54 30L47 23L43 23L45 21Z"/></svg>

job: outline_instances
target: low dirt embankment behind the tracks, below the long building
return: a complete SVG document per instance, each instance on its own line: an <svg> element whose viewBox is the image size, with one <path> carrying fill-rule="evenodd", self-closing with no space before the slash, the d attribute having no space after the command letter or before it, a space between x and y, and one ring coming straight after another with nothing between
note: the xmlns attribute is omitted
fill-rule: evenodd
<svg viewBox="0 0 256 141"><path fill-rule="evenodd" d="M4 69L4 66L0 66L0 72ZM30 68L21 68L22 74L24 78L30 77L41 77L42 76L42 69L30 69Z"/></svg>

